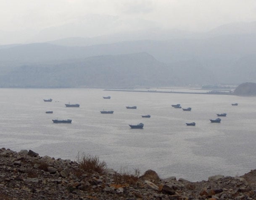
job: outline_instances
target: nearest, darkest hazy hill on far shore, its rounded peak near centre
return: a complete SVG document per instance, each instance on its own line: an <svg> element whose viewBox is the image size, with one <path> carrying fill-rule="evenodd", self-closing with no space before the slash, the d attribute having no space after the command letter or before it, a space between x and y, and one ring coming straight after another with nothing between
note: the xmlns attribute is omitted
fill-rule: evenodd
<svg viewBox="0 0 256 200"><path fill-rule="evenodd" d="M1 87L126 88L175 85L164 63L147 53L105 55L58 64L24 65L1 74Z"/></svg>

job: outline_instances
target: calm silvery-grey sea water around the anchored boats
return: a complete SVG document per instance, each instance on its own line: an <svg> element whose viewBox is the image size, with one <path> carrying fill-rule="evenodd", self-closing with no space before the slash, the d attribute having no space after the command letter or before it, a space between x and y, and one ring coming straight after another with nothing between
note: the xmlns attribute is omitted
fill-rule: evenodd
<svg viewBox="0 0 256 200"><path fill-rule="evenodd" d="M108 95L111 99L102 98ZM43 101L50 98L52 102ZM65 107L69 102L80 108ZM0 148L31 149L40 156L71 160L85 152L117 171L153 169L161 178L190 181L256 169L256 97L2 88L0 104ZM103 109L114 113L100 114ZM50 110L53 114L45 114ZM224 112L227 117L221 123L209 121ZM142 118L143 114L151 118ZM56 118L72 119L72 123L53 124ZM139 122L144 129L130 129L129 124ZM186 122L196 125L186 126Z"/></svg>

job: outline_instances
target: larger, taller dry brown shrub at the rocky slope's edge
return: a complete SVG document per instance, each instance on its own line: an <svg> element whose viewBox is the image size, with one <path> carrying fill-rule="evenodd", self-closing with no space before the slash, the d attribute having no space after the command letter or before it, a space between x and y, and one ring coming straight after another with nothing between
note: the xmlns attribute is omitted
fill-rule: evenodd
<svg viewBox="0 0 256 200"><path fill-rule="evenodd" d="M102 173L107 168L105 161L100 161L98 156L91 156L86 153L78 153L76 161L79 168L87 173Z"/></svg>

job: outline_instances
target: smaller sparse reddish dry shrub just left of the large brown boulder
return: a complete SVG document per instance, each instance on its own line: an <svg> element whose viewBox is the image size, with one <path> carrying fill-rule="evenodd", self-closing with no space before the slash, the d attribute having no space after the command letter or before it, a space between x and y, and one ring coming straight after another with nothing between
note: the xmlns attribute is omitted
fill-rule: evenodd
<svg viewBox="0 0 256 200"><path fill-rule="evenodd" d="M114 182L116 184L130 184L130 185L134 185L137 183L137 181L139 180L140 177L140 170L139 169L134 169L134 171L129 171L127 169L127 167L122 167L119 170L119 173L115 173L114 174Z"/></svg>

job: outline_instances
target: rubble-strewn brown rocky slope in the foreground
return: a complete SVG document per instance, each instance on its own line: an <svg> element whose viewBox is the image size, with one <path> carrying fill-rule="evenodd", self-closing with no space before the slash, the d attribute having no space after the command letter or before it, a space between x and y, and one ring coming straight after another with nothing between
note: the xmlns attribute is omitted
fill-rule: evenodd
<svg viewBox="0 0 256 200"><path fill-rule="evenodd" d="M136 181L120 177L113 169L86 173L76 161L0 149L1 200L256 200L256 170L201 182L160 179L153 170Z"/></svg>

